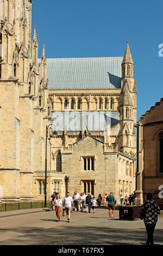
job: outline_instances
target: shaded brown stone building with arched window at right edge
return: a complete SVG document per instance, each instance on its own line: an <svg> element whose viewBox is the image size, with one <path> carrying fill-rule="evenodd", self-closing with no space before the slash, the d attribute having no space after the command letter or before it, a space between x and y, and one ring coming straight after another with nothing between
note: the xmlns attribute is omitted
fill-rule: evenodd
<svg viewBox="0 0 163 256"><path fill-rule="evenodd" d="M137 122L137 172L135 203L142 204L147 193L163 203L163 99L156 102Z"/></svg>

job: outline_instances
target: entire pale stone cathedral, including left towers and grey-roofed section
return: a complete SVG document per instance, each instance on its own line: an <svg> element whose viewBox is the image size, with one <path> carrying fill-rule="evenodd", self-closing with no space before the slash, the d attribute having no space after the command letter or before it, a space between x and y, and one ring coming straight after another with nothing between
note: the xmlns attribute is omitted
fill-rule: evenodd
<svg viewBox="0 0 163 256"><path fill-rule="evenodd" d="M129 42L123 57L48 59L43 45L39 59L31 20L32 0L0 0L1 200L44 200L46 187L48 200L67 190L129 196L137 96Z"/></svg>

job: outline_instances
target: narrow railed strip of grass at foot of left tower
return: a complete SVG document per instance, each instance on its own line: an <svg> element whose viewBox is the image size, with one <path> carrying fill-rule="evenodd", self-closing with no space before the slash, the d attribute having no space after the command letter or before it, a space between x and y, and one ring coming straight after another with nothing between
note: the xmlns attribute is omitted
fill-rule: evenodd
<svg viewBox="0 0 163 256"><path fill-rule="evenodd" d="M47 202L47 206L49 206L49 202ZM16 210L25 210L25 209L36 209L43 208L44 202L21 202L21 203L2 203L0 205L1 211L16 211Z"/></svg>

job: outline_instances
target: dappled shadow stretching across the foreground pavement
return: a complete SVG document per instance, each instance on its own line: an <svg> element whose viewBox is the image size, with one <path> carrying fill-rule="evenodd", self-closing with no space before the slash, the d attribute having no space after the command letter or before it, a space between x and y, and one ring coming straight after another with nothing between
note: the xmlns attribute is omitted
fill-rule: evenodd
<svg viewBox="0 0 163 256"><path fill-rule="evenodd" d="M52 221L54 220L43 220ZM3 233L16 233L13 239L1 241L0 245L142 245L146 243L145 228L139 230L74 226L74 223L66 223L58 227L48 229L21 227L1 229ZM20 232L20 236L17 233ZM155 243L162 243L162 229L156 229L154 233ZM163 245L163 243L162 243Z"/></svg>

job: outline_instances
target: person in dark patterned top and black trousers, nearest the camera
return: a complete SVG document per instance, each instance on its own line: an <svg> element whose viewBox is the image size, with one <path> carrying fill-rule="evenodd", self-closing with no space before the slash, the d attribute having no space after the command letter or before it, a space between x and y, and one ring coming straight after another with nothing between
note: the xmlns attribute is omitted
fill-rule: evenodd
<svg viewBox="0 0 163 256"><path fill-rule="evenodd" d="M154 245L153 233L156 222L158 221L158 214L160 214L160 207L152 199L152 193L147 194L147 200L143 203L140 211L140 219L144 220L147 231L147 242L146 245Z"/></svg>

